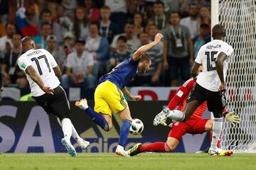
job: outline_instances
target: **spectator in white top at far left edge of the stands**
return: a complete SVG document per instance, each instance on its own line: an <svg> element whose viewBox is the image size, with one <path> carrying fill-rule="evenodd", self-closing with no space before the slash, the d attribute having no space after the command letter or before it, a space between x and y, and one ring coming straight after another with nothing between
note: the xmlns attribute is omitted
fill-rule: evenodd
<svg viewBox="0 0 256 170"><path fill-rule="evenodd" d="M13 47L12 36L16 32L16 26L14 23L6 23L6 35L0 38L0 53L4 56L6 52L10 52Z"/></svg>

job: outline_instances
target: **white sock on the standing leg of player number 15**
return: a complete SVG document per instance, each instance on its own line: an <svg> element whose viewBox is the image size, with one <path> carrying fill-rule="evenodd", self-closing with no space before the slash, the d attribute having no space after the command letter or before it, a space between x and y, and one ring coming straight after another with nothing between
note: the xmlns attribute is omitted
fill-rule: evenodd
<svg viewBox="0 0 256 170"><path fill-rule="evenodd" d="M213 120L213 136L210 148L216 149L220 138L220 133L223 127L223 118L214 118Z"/></svg>

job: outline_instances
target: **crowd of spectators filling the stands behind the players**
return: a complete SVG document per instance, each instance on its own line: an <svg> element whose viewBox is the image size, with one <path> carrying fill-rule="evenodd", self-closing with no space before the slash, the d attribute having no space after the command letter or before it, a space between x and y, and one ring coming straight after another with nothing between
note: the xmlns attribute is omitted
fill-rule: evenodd
<svg viewBox="0 0 256 170"><path fill-rule="evenodd" d="M1 0L2 84L28 86L16 64L26 35L53 55L64 88L95 88L100 76L159 32L164 40L147 52L149 72L138 74L130 86L178 86L189 79L199 48L210 41L210 1Z"/></svg>

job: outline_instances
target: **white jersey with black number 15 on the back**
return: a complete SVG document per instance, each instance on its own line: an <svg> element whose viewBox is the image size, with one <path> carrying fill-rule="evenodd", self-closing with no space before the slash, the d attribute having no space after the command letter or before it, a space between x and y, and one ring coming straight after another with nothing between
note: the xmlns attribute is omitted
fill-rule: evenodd
<svg viewBox="0 0 256 170"><path fill-rule="evenodd" d="M215 61L217 60L220 52L224 52L225 55L228 56L223 62L223 74L225 79L228 62L233 51L233 47L222 40L213 40L208 42L206 45L203 45L195 60L198 64L203 65L203 72L198 75L196 82L209 91L218 91L220 87L220 78L218 77Z"/></svg>

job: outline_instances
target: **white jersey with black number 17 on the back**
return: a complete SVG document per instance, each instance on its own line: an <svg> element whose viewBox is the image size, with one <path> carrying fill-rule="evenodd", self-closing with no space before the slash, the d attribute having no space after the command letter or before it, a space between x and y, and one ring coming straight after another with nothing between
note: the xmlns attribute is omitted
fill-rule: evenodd
<svg viewBox="0 0 256 170"><path fill-rule="evenodd" d="M53 55L47 50L31 49L21 55L21 57L18 58L18 67L25 72L28 66L32 66L36 70L36 73L41 77L43 84L50 87L50 89L55 89L60 84L58 77L55 76L53 71L53 68L57 67L58 64L54 60ZM31 87L32 96L41 96L45 94L28 74L26 74L26 78Z"/></svg>

